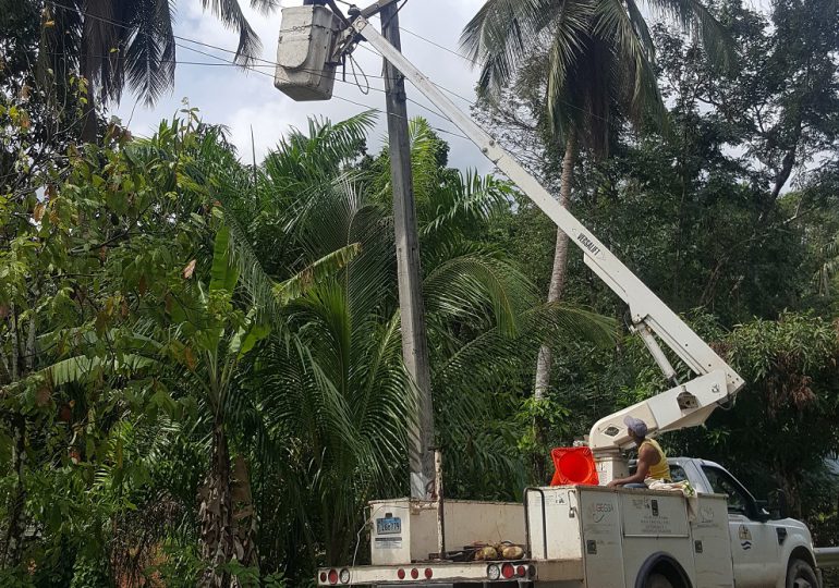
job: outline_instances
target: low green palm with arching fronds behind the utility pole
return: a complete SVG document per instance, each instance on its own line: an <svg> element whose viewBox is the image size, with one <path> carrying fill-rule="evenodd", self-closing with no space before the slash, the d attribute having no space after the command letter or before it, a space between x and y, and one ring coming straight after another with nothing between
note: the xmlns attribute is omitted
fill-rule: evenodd
<svg viewBox="0 0 839 588"><path fill-rule="evenodd" d="M289 331L308 356L272 336L259 359L262 415L288 464L275 477L282 482L268 490L270 507L293 517L275 518L282 526L269 535L288 537L287 549L302 550L309 561L323 550L328 564L353 558L368 500L408 490L408 422L415 413L400 352L387 156L369 167L350 166L372 122L366 113L336 124L313 121L307 133L291 133L263 167L271 197L245 221L258 226L269 209L283 213L270 231L277 235L281 228L284 235L271 255L282 252L291 261L279 274L357 245L345 267L312 283L284 309ZM450 469L469 462L470 471L493 471L502 494L499 488L516 486L521 467L509 438L494 442L487 431L478 438L482 426L498 417L493 399L503 395L490 392L502 383L491 375L519 350L535 351L547 331L603 340L612 329L577 309L538 305L533 286L501 253L465 236L509 210L508 185L441 168L440 142L424 121L411 124L411 144L435 418L445 422L439 434Z"/></svg>

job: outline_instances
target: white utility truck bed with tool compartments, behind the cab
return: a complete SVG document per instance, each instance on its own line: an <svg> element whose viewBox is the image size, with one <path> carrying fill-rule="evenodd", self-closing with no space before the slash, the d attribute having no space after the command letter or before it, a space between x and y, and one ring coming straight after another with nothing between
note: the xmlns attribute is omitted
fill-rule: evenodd
<svg viewBox="0 0 839 588"><path fill-rule="evenodd" d="M666 554L692 586L732 587L725 497L704 494L693 505L689 511L679 492L586 486L527 489L524 504L450 501L447 551L476 541L525 547L519 561L452 562L429 560L437 546L433 503L377 501L373 565L320 569L318 584L625 588L650 558Z"/></svg>

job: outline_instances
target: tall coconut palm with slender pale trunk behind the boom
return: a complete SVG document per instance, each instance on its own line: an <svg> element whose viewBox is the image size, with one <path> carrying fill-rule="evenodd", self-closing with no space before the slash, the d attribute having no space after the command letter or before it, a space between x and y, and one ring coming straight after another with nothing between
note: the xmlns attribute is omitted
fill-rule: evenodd
<svg viewBox="0 0 839 588"><path fill-rule="evenodd" d="M698 0L648 0L657 10L701 36L710 58L729 61L728 35ZM559 203L571 199L581 148L607 154L610 135L625 118L635 126L665 122L666 109L654 70L654 44L635 0L487 0L466 25L462 46L483 64L479 86L488 96L533 72L545 84L546 122L564 147ZM548 302L566 282L568 236L557 231ZM534 396L550 384L551 347L543 345Z"/></svg>

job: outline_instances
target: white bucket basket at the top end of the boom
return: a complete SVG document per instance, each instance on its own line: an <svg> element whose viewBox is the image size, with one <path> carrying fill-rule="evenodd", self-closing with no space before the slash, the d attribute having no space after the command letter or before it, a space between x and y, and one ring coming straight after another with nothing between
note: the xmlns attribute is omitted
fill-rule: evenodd
<svg viewBox="0 0 839 588"><path fill-rule="evenodd" d="M330 59L340 24L325 7L283 9L275 87L295 101L331 98L336 65Z"/></svg>

